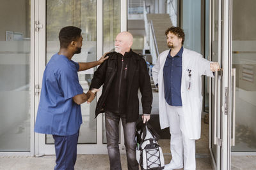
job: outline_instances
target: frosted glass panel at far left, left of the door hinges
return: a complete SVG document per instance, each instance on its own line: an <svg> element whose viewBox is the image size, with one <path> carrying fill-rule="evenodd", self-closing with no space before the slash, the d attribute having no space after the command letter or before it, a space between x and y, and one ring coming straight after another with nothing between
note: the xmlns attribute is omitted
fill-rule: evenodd
<svg viewBox="0 0 256 170"><path fill-rule="evenodd" d="M30 1L1 1L0 151L30 150Z"/></svg>

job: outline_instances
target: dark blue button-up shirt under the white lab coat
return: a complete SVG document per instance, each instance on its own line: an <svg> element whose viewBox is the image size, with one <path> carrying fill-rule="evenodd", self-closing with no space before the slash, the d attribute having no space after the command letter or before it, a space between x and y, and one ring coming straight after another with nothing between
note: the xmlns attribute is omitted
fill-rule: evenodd
<svg viewBox="0 0 256 170"><path fill-rule="evenodd" d="M183 46L174 57L170 55L171 50L165 60L163 69L164 98L170 106L182 106L180 86L182 75Z"/></svg>

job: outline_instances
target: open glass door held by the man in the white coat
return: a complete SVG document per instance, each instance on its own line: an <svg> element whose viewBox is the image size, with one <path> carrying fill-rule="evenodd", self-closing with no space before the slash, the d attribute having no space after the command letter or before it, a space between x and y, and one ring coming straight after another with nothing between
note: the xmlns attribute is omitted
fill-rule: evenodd
<svg viewBox="0 0 256 170"><path fill-rule="evenodd" d="M210 59L221 70L210 81L209 149L213 169L230 169L232 86L230 1L210 1Z"/></svg>

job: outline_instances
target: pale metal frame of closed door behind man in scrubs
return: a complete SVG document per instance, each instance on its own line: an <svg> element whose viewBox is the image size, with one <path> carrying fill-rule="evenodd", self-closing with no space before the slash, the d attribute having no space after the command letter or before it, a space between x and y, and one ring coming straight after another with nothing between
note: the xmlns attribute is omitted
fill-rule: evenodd
<svg viewBox="0 0 256 170"><path fill-rule="evenodd" d="M32 5L33 4L33 5ZM35 25L31 24L31 34L35 34L35 83L36 85L42 85L42 77L45 69L45 37L46 37L46 0L31 0L31 23L39 22L40 29L36 31ZM35 14L33 16L32 14ZM41 27L42 26L42 27ZM32 29L33 28L33 29ZM120 0L120 31L127 31L127 0ZM31 39L32 39L31 35ZM32 41L31 41L32 43ZM32 53L32 50L31 50ZM100 59L103 53L103 0L97 1L97 59ZM32 62L32 61L31 61ZM40 88L40 87L39 87ZM54 145L45 144L45 134L38 134L34 132L35 118L38 109L39 96L34 96L34 92L31 91L31 96L35 97L35 104L31 103L31 109L35 110L35 113L31 113L31 155L54 155ZM39 89L40 90L40 89ZM100 96L100 92L98 94ZM99 99L99 97L98 97ZM106 144L103 144L103 115L100 114L97 117L97 144L79 144L77 145L77 154L107 154L108 150ZM120 132L120 152L125 153L124 149L124 131L121 128Z"/></svg>

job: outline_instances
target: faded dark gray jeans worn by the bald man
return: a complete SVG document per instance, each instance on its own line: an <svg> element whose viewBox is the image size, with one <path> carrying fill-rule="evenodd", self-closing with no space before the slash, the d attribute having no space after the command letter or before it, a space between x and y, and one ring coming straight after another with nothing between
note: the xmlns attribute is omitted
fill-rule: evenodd
<svg viewBox="0 0 256 170"><path fill-rule="evenodd" d="M107 148L108 157L111 170L122 169L119 152L119 129L118 124L122 120L124 128L124 144L127 156L127 166L129 170L138 170L138 162L136 161L136 141L135 141L135 130L136 122L126 123L125 115L118 113L111 113L106 111L106 134L107 134Z"/></svg>

